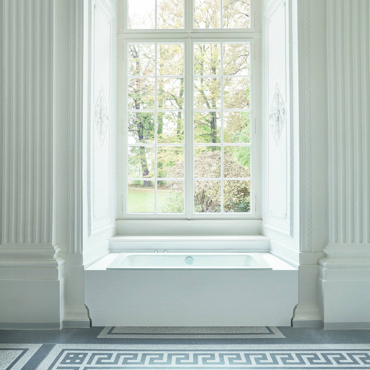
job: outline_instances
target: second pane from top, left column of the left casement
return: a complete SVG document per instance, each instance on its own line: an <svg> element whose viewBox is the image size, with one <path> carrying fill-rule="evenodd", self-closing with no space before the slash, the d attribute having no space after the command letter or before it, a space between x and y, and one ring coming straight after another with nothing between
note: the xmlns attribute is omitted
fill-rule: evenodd
<svg viewBox="0 0 370 370"><path fill-rule="evenodd" d="M128 79L128 109L154 109L154 78Z"/></svg>

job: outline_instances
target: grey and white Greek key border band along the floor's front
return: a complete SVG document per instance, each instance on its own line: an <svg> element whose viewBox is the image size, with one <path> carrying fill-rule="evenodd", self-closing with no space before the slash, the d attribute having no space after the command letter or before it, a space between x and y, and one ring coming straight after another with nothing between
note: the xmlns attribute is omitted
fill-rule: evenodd
<svg viewBox="0 0 370 370"><path fill-rule="evenodd" d="M37 370L370 369L369 344L142 347L56 344Z"/></svg>

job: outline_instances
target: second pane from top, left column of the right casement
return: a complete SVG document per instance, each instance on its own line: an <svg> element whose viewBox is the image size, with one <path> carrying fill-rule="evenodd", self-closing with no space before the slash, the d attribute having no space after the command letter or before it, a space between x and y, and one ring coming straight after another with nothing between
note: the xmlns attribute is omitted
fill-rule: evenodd
<svg viewBox="0 0 370 370"><path fill-rule="evenodd" d="M216 77L194 78L194 108L221 108L221 79Z"/></svg>

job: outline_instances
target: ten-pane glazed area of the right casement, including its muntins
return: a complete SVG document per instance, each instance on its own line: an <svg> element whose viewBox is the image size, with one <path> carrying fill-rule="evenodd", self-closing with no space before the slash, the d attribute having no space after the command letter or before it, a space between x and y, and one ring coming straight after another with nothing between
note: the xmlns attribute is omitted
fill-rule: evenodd
<svg viewBox="0 0 370 370"><path fill-rule="evenodd" d="M250 44L193 50L194 213L250 212Z"/></svg>

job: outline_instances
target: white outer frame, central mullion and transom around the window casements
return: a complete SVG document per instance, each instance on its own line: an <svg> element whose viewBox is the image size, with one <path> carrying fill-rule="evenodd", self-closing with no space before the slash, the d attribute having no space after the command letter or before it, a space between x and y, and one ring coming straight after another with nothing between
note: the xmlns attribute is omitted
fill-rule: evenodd
<svg viewBox="0 0 370 370"><path fill-rule="evenodd" d="M251 1L252 6L253 0ZM124 0L124 9L127 9L127 0ZM192 1L185 0L185 26L192 26ZM191 17L189 15L191 12ZM252 12L250 12L252 14ZM127 14L127 13L126 13ZM125 17L124 17L125 19ZM251 28L210 29L200 30L191 28L184 30L128 30L127 21L123 22L124 34L118 35L118 135L117 135L117 218L118 219L260 219L261 218L261 161L260 136L258 122L260 122L260 65L256 63L256 49L260 50L260 35L252 33ZM189 24L189 22L191 24ZM252 17L250 24L252 24ZM125 28L126 26L126 28ZM188 28L189 29L189 28ZM240 33L240 30L243 32ZM247 31L248 30L248 31ZM143 33L142 31L145 31ZM180 32L179 32L180 31ZM220 32L221 31L221 32ZM150 32L150 33L148 33ZM248 213L194 213L194 109L193 109L193 78L194 43L249 43L250 44L250 212ZM184 213L128 213L127 212L127 45L129 43L184 43ZM156 82L157 84L157 82ZM156 108L156 107L155 107ZM223 126L221 121L221 127ZM190 128L190 129L189 129ZM157 133L155 133L157 134ZM221 133L222 134L222 133ZM238 145L238 144L235 144ZM219 143L221 146L221 143ZM155 181L157 188L157 181ZM155 195L156 196L156 195Z"/></svg>

